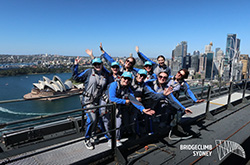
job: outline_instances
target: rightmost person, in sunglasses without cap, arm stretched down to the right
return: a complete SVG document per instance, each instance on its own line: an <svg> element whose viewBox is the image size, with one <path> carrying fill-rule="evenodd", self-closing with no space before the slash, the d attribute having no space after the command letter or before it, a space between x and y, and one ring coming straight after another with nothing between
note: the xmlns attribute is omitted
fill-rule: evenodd
<svg viewBox="0 0 250 165"><path fill-rule="evenodd" d="M183 91L184 94L194 103L205 101L204 99L198 100L191 91L188 83L185 81L185 79L188 78L188 75L189 71L187 69L181 69L175 76L169 77L167 85L173 87L173 94L177 99L179 98L180 91Z"/></svg>

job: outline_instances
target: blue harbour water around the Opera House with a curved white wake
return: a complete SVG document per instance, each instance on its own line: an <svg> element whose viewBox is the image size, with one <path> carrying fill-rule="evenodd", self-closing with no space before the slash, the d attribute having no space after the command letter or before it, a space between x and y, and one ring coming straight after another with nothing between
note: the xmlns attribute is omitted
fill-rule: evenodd
<svg viewBox="0 0 250 165"><path fill-rule="evenodd" d="M43 76L52 79L54 75L59 76L63 82L71 77L71 73L0 77L0 100L21 99L24 94L31 91L33 83L42 80ZM33 100L3 103L0 104L0 123L79 108L81 108L79 96L72 96L53 101Z"/></svg>

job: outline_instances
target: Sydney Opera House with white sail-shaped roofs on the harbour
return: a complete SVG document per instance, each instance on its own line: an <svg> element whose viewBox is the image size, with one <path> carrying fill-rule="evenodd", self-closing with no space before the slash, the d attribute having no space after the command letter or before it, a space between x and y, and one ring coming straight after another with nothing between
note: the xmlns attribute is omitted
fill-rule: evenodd
<svg viewBox="0 0 250 165"><path fill-rule="evenodd" d="M33 86L31 93L23 96L24 99L54 100L80 94L84 89L83 84L73 84L70 80L63 83L58 76L54 76L52 80L43 76L43 80L33 83Z"/></svg>

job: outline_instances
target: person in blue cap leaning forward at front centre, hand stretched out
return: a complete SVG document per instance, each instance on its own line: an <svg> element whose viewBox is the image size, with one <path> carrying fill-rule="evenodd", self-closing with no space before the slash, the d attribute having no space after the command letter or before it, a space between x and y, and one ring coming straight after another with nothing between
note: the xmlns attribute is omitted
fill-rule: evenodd
<svg viewBox="0 0 250 165"><path fill-rule="evenodd" d="M131 89L131 81L133 77L130 72L124 72L121 76L120 81L115 81L110 84L108 89L108 96L110 102L115 102L117 104L117 114L116 114L116 131L117 145L121 145L121 124L130 124L134 121L135 109L147 115L153 115L154 110L150 108L145 108L140 102L138 102Z"/></svg>

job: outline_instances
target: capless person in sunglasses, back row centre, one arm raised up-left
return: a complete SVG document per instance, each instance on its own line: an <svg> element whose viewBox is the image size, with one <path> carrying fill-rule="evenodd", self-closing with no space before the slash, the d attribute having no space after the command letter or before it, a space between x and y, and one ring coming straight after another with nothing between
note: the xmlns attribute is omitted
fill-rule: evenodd
<svg viewBox="0 0 250 165"><path fill-rule="evenodd" d="M106 62L111 65L112 62L114 62L115 60L104 51L103 47L102 47L102 43L100 44L100 50L103 53L101 56L106 60ZM122 66L120 65L120 72L131 72L133 74L133 76L136 76L136 73L139 71L138 68L134 68L134 65L136 63L135 58L134 57L128 57L126 58L125 62L123 62L122 60L120 60L120 63L122 64Z"/></svg>

